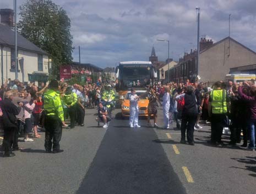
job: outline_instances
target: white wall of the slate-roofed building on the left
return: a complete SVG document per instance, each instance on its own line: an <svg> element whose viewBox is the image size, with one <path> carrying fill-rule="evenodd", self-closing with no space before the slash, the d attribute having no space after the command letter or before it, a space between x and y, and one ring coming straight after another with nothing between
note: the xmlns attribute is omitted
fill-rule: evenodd
<svg viewBox="0 0 256 194"><path fill-rule="evenodd" d="M35 71L38 71L37 66L37 53L28 52L25 50L18 49L18 58L24 58L24 82L29 82L28 74L32 74ZM15 79L15 72L10 72L10 48L4 47L3 48L3 78L4 81L8 78ZM0 65L1 64L1 52L0 52ZM18 64L19 65L19 64ZM7 68L6 68L7 66ZM18 67L20 70L20 65ZM1 68L0 68L1 72ZM43 55L43 72L48 73L48 56ZM2 72L1 72L2 76ZM18 72L18 79L22 81L22 73L21 71ZM2 79L0 79L2 84ZM37 84L37 83L36 83Z"/></svg>

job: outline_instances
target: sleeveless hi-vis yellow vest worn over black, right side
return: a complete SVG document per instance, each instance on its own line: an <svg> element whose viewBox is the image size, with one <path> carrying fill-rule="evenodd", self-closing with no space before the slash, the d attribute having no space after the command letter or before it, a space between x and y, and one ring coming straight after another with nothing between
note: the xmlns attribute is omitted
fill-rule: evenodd
<svg viewBox="0 0 256 194"><path fill-rule="evenodd" d="M227 113L226 90L211 91L211 111L213 114Z"/></svg>

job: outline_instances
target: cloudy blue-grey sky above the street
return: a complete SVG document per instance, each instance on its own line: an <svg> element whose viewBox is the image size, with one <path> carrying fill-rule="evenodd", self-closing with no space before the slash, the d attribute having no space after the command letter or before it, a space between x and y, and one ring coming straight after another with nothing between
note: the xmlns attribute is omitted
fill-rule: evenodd
<svg viewBox="0 0 256 194"><path fill-rule="evenodd" d="M200 37L220 41L230 36L256 51L255 0L52 0L67 11L73 35L73 58L99 67L119 61L148 61L152 46L159 61L178 60L197 48L197 13ZM21 5L26 0L17 0ZM0 0L0 8L13 8L13 0Z"/></svg>

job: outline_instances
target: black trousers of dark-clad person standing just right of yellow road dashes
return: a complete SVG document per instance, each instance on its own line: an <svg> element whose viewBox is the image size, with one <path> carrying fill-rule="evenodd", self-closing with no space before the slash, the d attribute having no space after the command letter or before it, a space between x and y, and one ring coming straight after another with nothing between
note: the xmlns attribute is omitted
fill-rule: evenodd
<svg viewBox="0 0 256 194"><path fill-rule="evenodd" d="M184 114L181 120L181 140L185 141L186 129L187 129L187 140L189 143L194 142L194 126L197 122L197 114Z"/></svg>

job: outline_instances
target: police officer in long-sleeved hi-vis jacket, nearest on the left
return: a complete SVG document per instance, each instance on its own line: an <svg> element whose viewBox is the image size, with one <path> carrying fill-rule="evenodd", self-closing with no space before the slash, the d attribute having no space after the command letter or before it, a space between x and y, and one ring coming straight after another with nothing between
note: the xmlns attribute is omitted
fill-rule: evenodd
<svg viewBox="0 0 256 194"><path fill-rule="evenodd" d="M65 125L65 123L61 98L58 93L58 82L56 79L51 81L44 96L44 109L46 114L45 150L47 153L51 153L51 149L53 149L53 153L63 152L63 150L59 149L59 141L61 141L62 136L62 125Z"/></svg>

